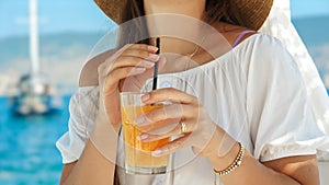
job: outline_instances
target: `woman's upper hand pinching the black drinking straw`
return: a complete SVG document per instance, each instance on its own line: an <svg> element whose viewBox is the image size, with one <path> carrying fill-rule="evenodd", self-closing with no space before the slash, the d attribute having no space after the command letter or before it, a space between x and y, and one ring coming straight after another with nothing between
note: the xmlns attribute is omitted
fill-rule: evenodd
<svg viewBox="0 0 329 185"><path fill-rule="evenodd" d="M144 44L126 45L99 66L99 117L120 129L120 92L139 91L152 76L155 62L160 59L157 47ZM163 60L159 65L163 63Z"/></svg>

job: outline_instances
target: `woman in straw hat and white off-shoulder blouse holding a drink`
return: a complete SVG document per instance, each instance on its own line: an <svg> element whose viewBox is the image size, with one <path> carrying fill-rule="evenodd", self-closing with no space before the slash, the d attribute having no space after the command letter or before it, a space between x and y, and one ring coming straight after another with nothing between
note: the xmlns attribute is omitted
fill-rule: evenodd
<svg viewBox="0 0 329 185"><path fill-rule="evenodd" d="M205 47L163 36L161 53L189 56L198 66L180 65L182 57L164 59L156 55L158 48L151 45L151 38L91 60L80 81L81 86L89 88L81 88L72 97L69 132L57 142L66 163L61 184L163 184L168 181L163 175L128 175L115 165L121 154L118 93L132 88L128 80L145 82L150 78L158 60L163 73L172 73L193 86L178 84L174 89L163 88L146 94L145 103L171 101L174 105L171 107L179 108L164 108L166 114L152 112L135 120L156 127L158 120L168 117L180 120L180 127L164 136L150 132L139 136L143 141L149 141L182 135L157 149L154 155L186 148L200 155L174 169L170 183L214 184L213 175L216 174L225 185L319 184L316 148L327 138L313 119L298 68L276 39L250 32L261 26L272 1L107 0L98 1L98 4L117 23L159 13L205 21L234 49L214 56ZM150 35L157 35L154 32L163 26L146 22ZM141 31L143 24L137 25ZM180 28L185 27L181 25ZM203 26L193 31L202 35ZM123 35L127 36L125 32ZM211 46L226 47L223 43L211 43ZM173 71L169 68L172 65L186 70ZM93 86L97 84L99 86ZM88 131L92 131L90 137Z"/></svg>

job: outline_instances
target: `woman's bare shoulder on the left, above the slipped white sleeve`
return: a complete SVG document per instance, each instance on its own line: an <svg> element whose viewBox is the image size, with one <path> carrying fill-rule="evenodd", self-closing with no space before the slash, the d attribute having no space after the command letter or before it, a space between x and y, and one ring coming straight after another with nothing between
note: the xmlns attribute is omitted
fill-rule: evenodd
<svg viewBox="0 0 329 185"><path fill-rule="evenodd" d="M80 78L79 78L79 86L97 86L99 85L99 73L98 67L106 60L110 56L112 56L116 50L111 49L106 50L89 61L83 66Z"/></svg>

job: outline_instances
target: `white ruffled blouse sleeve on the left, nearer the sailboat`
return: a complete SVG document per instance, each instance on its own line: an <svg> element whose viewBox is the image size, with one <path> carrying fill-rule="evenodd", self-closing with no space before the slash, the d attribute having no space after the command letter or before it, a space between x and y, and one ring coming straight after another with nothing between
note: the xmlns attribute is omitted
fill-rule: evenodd
<svg viewBox="0 0 329 185"><path fill-rule="evenodd" d="M68 131L56 142L63 163L77 161L94 127L98 112L98 88L80 88L69 103Z"/></svg>

